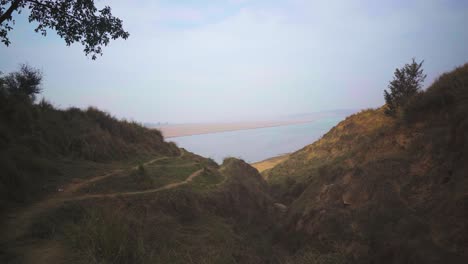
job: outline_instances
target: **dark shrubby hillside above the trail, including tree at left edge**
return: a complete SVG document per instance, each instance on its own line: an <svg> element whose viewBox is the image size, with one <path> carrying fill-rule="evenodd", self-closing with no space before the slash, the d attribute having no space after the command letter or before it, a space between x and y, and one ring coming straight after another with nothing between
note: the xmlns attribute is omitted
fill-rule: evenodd
<svg viewBox="0 0 468 264"><path fill-rule="evenodd" d="M0 211L37 198L44 192L38 186L60 182L67 170L58 168L68 163L101 166L179 155L157 130L93 107L59 110L45 100L36 103L40 83L40 72L28 66L0 75Z"/></svg>

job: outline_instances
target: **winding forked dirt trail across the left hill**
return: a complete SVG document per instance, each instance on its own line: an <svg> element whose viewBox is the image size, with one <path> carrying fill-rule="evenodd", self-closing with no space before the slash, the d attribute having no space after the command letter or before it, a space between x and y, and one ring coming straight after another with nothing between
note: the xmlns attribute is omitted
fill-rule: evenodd
<svg viewBox="0 0 468 264"><path fill-rule="evenodd" d="M181 156L183 153L181 154ZM181 157L180 156L180 157ZM179 158L180 158L179 157ZM169 157L158 157L150 160L143 165L150 165L157 161L167 159ZM131 167L130 170L135 170L137 166ZM127 169L128 170L128 169ZM42 213L53 208L57 208L69 201L81 201L87 199L98 199L98 198L115 198L115 197L129 197L136 195L143 195L149 193L156 193L163 190L169 190L179 187L184 184L190 183L195 177L203 173L204 168L197 170L190 174L185 180L181 182L169 183L159 188L143 190L143 191L132 191L132 192L117 192L108 194L76 194L79 189L88 186L89 184L104 180L106 178L118 175L124 171L124 169L116 169L104 175L96 176L88 180L84 180L78 183L71 183L66 186L61 193L54 194L38 203L35 203L27 208L18 211L14 216L10 216L4 223L2 228L2 236L0 237L0 246L6 247L12 244L18 244L26 233L29 231L34 220ZM7 248L7 247L6 247Z"/></svg>

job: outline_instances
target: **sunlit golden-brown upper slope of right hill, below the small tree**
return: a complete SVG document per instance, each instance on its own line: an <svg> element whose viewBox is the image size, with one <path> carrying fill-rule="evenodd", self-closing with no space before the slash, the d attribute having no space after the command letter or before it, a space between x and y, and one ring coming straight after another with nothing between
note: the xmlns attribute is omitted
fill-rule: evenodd
<svg viewBox="0 0 468 264"><path fill-rule="evenodd" d="M320 140L289 155L288 159L264 172L272 195L291 203L325 171L339 174L352 157L369 153L375 142L390 133L395 121L384 109L367 109L353 114L327 132ZM370 154L370 153L369 153ZM364 158L361 158L364 159Z"/></svg>

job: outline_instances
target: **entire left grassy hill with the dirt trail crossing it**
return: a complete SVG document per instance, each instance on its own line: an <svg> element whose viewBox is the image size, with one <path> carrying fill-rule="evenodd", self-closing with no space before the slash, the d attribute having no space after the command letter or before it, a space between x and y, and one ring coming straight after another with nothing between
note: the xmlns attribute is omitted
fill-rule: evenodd
<svg viewBox="0 0 468 264"><path fill-rule="evenodd" d="M0 199L8 213L1 219L0 262L262 263L272 257L271 199L248 164L230 159L219 168L164 142L156 130L94 108L0 99L6 102ZM172 189L123 195L181 183L198 171Z"/></svg>

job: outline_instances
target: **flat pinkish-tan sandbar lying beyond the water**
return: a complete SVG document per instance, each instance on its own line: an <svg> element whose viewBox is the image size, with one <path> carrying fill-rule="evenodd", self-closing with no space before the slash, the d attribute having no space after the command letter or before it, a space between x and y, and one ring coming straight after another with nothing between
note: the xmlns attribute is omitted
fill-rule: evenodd
<svg viewBox="0 0 468 264"><path fill-rule="evenodd" d="M169 126L156 126L163 134L164 138L176 138L195 136L203 134L213 134L221 132L231 132L239 130L251 130L269 127L280 127L314 122L319 118L293 121L263 121L263 122L237 122L237 123L208 123L208 124L181 124Z"/></svg>

